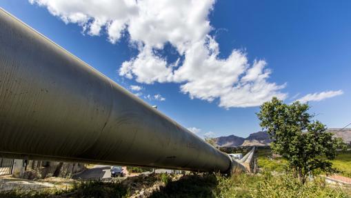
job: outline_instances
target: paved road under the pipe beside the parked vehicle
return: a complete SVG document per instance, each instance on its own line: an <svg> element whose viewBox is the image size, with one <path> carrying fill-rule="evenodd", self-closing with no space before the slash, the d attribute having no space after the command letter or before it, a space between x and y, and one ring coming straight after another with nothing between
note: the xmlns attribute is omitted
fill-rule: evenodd
<svg viewBox="0 0 351 198"><path fill-rule="evenodd" d="M87 169L78 175L74 175L72 179L106 179L111 177L111 166L95 165L93 168Z"/></svg>

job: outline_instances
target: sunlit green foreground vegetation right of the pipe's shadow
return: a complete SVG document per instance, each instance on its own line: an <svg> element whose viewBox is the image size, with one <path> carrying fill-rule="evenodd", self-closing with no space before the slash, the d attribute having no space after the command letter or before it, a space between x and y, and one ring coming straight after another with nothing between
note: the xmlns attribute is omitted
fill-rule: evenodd
<svg viewBox="0 0 351 198"><path fill-rule="evenodd" d="M290 174L221 177L217 190L216 197L350 197L350 191L327 187L319 178L301 184Z"/></svg>

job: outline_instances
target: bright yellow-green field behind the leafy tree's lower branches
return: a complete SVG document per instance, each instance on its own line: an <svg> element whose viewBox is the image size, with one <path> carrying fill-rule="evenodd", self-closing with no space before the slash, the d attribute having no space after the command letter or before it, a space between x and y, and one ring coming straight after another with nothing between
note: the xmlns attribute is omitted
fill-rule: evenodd
<svg viewBox="0 0 351 198"><path fill-rule="evenodd" d="M287 167L287 161L282 157L272 159L270 148L258 148L257 157L259 167L265 171L282 172ZM351 177L351 151L339 152L332 163L333 167L340 171L340 175Z"/></svg>

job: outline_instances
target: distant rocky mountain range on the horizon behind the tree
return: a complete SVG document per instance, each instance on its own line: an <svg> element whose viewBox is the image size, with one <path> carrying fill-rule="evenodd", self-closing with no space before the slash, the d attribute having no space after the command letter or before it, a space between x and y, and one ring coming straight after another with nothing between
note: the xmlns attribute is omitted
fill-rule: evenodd
<svg viewBox="0 0 351 198"><path fill-rule="evenodd" d="M330 128L328 132L334 132L335 137L341 137L345 143L351 142L351 128ZM236 135L229 135L214 138L214 142L219 147L237 147L237 146L269 146L270 136L265 131L254 132L249 137L243 138Z"/></svg>

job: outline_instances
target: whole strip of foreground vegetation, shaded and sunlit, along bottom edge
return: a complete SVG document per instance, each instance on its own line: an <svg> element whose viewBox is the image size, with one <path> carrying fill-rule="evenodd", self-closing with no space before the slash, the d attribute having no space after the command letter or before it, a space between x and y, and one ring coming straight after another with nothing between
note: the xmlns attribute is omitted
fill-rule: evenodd
<svg viewBox="0 0 351 198"><path fill-rule="evenodd" d="M0 197L130 197L134 186L148 188L159 183L143 197L351 197L350 191L328 187L321 179L301 184L292 175L150 175L125 181L86 181L66 190L13 190Z"/></svg>

